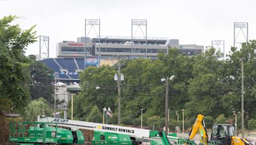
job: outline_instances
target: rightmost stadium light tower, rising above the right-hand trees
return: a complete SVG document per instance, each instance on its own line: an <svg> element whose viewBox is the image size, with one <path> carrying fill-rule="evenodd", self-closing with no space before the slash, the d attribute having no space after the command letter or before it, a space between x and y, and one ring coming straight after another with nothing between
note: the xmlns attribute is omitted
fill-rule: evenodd
<svg viewBox="0 0 256 145"><path fill-rule="evenodd" d="M238 32L237 32L238 31ZM240 49L241 43L248 42L248 23L247 22L234 22L234 47Z"/></svg>

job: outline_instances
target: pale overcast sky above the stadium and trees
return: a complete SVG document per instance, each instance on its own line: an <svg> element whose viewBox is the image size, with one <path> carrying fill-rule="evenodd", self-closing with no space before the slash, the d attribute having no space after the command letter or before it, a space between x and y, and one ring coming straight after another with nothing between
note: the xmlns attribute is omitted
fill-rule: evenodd
<svg viewBox="0 0 256 145"><path fill-rule="evenodd" d="M51 58L56 43L84 36L84 19L100 19L100 36L129 37L131 20L147 19L148 37L204 46L221 39L228 53L234 22L248 22L249 39L256 39L255 14L256 0L0 0L0 18L16 15L20 18L13 24L22 29L36 25L38 36L49 36ZM134 36L142 36L141 31ZM241 33L237 41L244 41ZM30 54L39 54L39 42L28 46Z"/></svg>

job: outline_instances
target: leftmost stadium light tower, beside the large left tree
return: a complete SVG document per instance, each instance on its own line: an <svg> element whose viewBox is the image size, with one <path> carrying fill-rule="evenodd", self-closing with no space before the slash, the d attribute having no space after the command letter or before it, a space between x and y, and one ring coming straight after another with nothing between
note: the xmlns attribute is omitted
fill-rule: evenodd
<svg viewBox="0 0 256 145"><path fill-rule="evenodd" d="M49 36L39 36L39 60L49 59Z"/></svg>

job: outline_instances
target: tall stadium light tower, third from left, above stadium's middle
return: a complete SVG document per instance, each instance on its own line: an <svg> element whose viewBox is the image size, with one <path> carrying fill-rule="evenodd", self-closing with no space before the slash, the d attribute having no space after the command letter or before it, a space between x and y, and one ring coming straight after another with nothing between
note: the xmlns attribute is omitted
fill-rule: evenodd
<svg viewBox="0 0 256 145"><path fill-rule="evenodd" d="M133 27L137 26L136 31L133 32ZM141 27L145 27L145 32L143 31L143 29ZM131 59L133 59L133 51L136 50L136 48L133 50L132 48L132 43L133 43L133 38L136 35L138 29L140 29L142 35L143 35L143 39L145 39L145 57L147 57L147 20L145 19L132 19L132 36L131 36ZM145 33L145 34L144 34Z"/></svg>

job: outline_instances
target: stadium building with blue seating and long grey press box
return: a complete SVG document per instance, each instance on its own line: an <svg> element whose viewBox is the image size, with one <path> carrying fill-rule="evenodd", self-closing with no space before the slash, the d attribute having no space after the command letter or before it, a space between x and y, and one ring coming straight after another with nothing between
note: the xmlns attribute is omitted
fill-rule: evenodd
<svg viewBox="0 0 256 145"><path fill-rule="evenodd" d="M147 42L147 43L146 43ZM86 49L85 49L86 46ZM204 52L204 46L180 45L179 39L167 38L128 38L109 37L77 38L74 41L62 41L56 45L56 59L44 59L61 82L79 82L79 72L88 66L113 66L117 62L116 56L124 59L148 57L156 59L158 53L168 53L168 48L179 48L185 55L197 55ZM84 55L84 52L86 55ZM100 58L100 59L99 59ZM86 59L86 65L84 65Z"/></svg>

